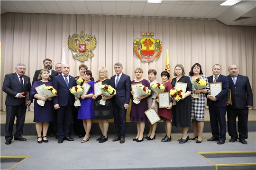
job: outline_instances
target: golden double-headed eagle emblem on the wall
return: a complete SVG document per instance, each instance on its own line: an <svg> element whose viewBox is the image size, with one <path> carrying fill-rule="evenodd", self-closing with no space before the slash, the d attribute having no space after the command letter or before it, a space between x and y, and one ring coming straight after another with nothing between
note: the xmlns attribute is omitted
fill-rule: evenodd
<svg viewBox="0 0 256 170"><path fill-rule="evenodd" d="M88 57L92 58L94 56L93 50L96 47L95 35L91 34L85 35L84 33L69 35L68 47L72 51L72 56L78 61L86 61Z"/></svg>

